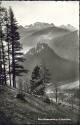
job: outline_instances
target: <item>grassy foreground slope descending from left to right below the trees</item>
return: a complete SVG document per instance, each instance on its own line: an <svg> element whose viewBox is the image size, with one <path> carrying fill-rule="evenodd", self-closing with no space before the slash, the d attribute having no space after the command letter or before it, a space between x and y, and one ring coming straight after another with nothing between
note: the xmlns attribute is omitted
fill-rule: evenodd
<svg viewBox="0 0 80 125"><path fill-rule="evenodd" d="M0 87L0 120L6 119L20 124L27 124L38 122L38 118L77 119L77 115L65 107L63 109L55 103L44 103L38 97L29 94L26 94L26 101L21 101L16 99L16 93L16 90Z"/></svg>

